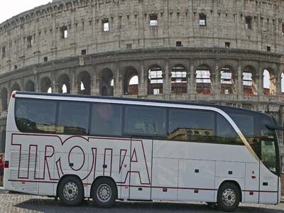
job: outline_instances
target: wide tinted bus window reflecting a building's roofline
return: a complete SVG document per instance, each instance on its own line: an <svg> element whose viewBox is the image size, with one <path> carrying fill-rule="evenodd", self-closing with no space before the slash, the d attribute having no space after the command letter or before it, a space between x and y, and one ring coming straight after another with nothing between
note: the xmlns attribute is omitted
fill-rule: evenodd
<svg viewBox="0 0 284 213"><path fill-rule="evenodd" d="M195 109L170 109L168 139L214 142L214 112Z"/></svg>

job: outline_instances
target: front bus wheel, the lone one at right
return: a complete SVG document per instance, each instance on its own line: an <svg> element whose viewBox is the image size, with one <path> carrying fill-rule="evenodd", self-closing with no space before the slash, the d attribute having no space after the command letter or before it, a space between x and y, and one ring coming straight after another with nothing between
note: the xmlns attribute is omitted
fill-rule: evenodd
<svg viewBox="0 0 284 213"><path fill-rule="evenodd" d="M232 182L224 182L218 190L217 204L224 212L234 212L239 207L241 192Z"/></svg>

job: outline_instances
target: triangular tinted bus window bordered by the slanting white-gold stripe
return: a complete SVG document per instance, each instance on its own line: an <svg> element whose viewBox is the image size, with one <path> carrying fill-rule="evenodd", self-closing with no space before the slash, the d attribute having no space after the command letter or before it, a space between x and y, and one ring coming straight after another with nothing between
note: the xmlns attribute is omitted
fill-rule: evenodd
<svg viewBox="0 0 284 213"><path fill-rule="evenodd" d="M216 142L244 145L231 124L220 114L217 114Z"/></svg>

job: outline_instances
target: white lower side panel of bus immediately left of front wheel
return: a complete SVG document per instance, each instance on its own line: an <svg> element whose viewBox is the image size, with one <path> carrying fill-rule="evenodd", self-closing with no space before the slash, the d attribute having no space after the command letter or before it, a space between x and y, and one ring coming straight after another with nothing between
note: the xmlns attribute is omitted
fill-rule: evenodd
<svg viewBox="0 0 284 213"><path fill-rule="evenodd" d="M214 202L215 162L179 160L178 200Z"/></svg>

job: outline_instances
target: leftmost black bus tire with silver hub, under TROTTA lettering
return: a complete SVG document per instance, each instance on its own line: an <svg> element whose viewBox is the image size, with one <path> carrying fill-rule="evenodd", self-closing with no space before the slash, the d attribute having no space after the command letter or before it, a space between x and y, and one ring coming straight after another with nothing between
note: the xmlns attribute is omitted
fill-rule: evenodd
<svg viewBox="0 0 284 213"><path fill-rule="evenodd" d="M58 185L58 197L62 204L77 206L84 200L84 187L77 177L67 176Z"/></svg>

